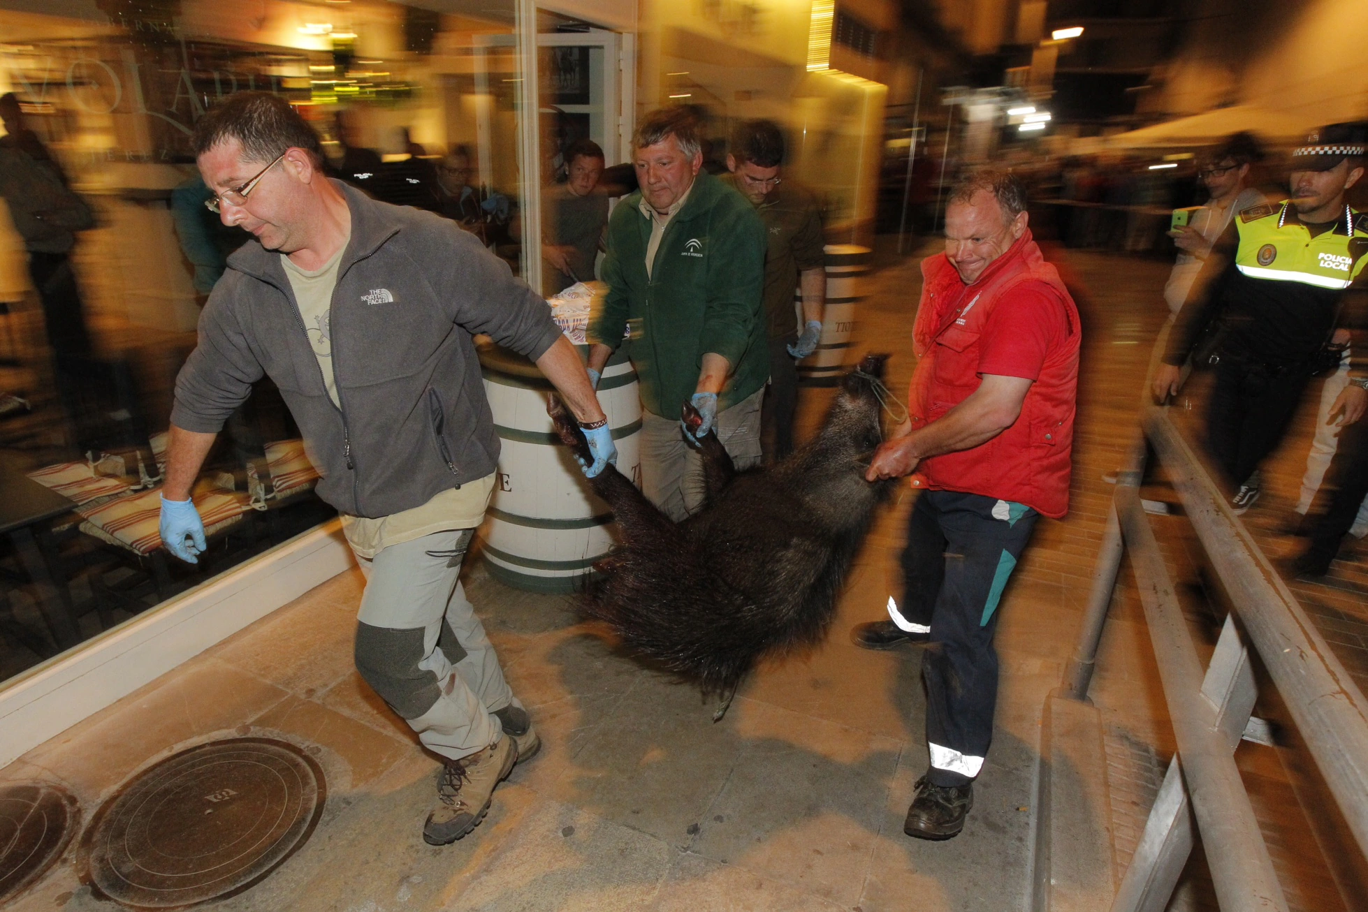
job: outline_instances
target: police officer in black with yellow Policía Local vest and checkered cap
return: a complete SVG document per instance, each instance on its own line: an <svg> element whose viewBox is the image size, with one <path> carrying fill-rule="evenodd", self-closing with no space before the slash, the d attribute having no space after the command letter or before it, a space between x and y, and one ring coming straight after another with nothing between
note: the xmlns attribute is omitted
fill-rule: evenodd
<svg viewBox="0 0 1368 912"><path fill-rule="evenodd" d="M1363 123L1306 137L1293 152L1290 198L1245 209L1216 241L1155 373L1163 402L1194 350L1197 366L1215 368L1207 446L1235 491L1235 513L1259 498L1259 465L1287 429L1317 353L1363 310L1368 215L1350 209L1345 193L1364 174L1365 148ZM1331 416L1352 424L1365 406L1368 391L1350 383Z"/></svg>

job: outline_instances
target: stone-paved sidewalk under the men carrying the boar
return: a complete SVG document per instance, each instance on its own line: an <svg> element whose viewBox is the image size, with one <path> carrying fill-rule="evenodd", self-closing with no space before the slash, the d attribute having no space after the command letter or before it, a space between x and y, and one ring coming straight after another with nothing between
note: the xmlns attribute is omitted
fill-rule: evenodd
<svg viewBox="0 0 1368 912"><path fill-rule="evenodd" d="M620 652L579 622L570 600L508 589L472 566L468 593L544 748L453 846L435 849L419 835L435 762L352 666L358 572L41 745L0 779L57 779L89 819L131 774L186 745L246 734L309 745L330 788L316 833L265 882L212 907L223 911L1023 909L1041 707L1077 634L1111 498L1103 476L1134 429L1137 377L1163 317L1150 302L1167 273L1164 264L1097 254L1077 265L1093 295L1073 510L1040 524L1003 602L995 744L974 812L953 841L902 833L928 763L919 652L865 652L847 640L851 625L882 615L908 496L880 517L828 641L765 665L715 725L696 689ZM899 395L912 368L918 286L915 258L888 264L859 314L858 345L895 351L889 387ZM825 398L807 397L808 424ZM1194 566L1187 544L1181 532L1166 533L1185 573ZM1155 786L1145 767L1172 751L1127 570L1093 697L1115 770L1109 807L1093 811L1116 835L1120 871ZM1278 783L1276 764L1259 768ZM1124 777L1134 779L1129 790ZM1265 807L1286 812L1283 793L1271 790L1276 800ZM73 852L10 908L109 907L82 885Z"/></svg>

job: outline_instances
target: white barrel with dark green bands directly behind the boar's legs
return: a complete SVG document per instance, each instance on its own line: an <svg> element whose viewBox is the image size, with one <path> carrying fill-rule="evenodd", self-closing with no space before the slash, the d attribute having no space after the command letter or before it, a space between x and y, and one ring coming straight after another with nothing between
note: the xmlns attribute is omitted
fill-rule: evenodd
<svg viewBox="0 0 1368 912"><path fill-rule="evenodd" d="M575 592L613 547L613 514L595 496L546 414L551 383L527 358L480 349L484 392L499 435L498 479L480 529L491 576L531 592ZM640 483L642 401L622 353L603 368L599 403L613 428L617 468Z"/></svg>

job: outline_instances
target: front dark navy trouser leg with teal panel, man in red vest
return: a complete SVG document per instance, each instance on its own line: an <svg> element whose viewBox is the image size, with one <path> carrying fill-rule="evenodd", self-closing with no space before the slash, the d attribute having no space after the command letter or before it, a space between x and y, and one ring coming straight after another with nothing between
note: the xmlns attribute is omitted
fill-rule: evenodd
<svg viewBox="0 0 1368 912"><path fill-rule="evenodd" d="M993 738L997 704L996 608L1036 525L1019 503L956 491L926 491L926 515L945 536L944 578L932 614L926 681L928 778L958 786L974 779ZM1003 555L1007 555L1004 561Z"/></svg>

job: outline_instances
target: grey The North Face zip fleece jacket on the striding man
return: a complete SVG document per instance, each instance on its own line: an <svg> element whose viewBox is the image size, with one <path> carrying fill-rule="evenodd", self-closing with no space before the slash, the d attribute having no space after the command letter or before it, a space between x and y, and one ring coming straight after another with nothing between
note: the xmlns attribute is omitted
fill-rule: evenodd
<svg viewBox="0 0 1368 912"><path fill-rule="evenodd" d="M334 183L352 212L331 308L342 407L324 390L279 253L249 241L200 316L171 423L216 433L267 373L323 476L319 496L383 517L494 470L499 442L472 335L535 361L561 332L546 301L475 235Z"/></svg>

